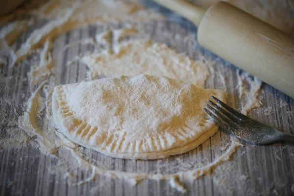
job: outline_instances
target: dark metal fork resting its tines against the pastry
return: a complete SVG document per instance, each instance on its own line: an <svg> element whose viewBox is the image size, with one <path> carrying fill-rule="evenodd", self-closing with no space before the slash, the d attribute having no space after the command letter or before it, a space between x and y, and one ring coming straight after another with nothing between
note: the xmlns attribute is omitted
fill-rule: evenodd
<svg viewBox="0 0 294 196"><path fill-rule="evenodd" d="M265 145L274 142L292 141L294 135L277 130L270 125L255 121L229 107L220 99L210 96L203 110L215 121L220 123L224 131L249 144Z"/></svg>

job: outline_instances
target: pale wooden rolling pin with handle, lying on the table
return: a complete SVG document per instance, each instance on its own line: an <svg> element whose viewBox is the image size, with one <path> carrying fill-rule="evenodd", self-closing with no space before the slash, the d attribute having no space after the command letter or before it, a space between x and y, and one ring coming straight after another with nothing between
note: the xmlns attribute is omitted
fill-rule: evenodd
<svg viewBox="0 0 294 196"><path fill-rule="evenodd" d="M294 39L223 1L209 9L154 0L198 26L201 46L294 98Z"/></svg>

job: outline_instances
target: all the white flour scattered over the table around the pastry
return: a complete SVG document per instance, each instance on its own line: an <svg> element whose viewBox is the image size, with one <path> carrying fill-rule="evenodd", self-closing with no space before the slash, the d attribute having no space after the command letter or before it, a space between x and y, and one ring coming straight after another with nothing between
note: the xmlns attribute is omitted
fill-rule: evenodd
<svg viewBox="0 0 294 196"><path fill-rule="evenodd" d="M81 25L122 21L144 22L161 20L163 17L145 9L138 3L126 3L116 0L50 0L46 4L42 4L41 1L40 3L38 1L33 2L36 6L35 9L31 10L24 6L24 8L20 8L0 20L1 24L4 24L4 27L0 30L0 39L5 42L4 44L9 50L12 59L12 61L8 62L1 57L1 64L5 66L7 66L7 63L15 65L25 60L36 49L42 49L38 54L40 61L31 66L28 73L31 96L27 100L25 108L21 108L21 110L24 110L24 114L20 115L18 113L21 116L18 122L9 122L9 116L4 119L10 126L18 124L21 128L9 126L9 139L1 138L0 147L3 149L18 149L24 146L39 148L40 151L57 160L56 166L52 167L52 172L65 172L64 177L72 185L84 184L87 181L94 180L98 174L104 174L113 178L124 178L132 185L144 179L167 179L170 180L171 187L184 193L186 189L181 185L181 181L194 180L202 175L209 174L213 168L222 166L221 163L228 161L236 149L241 146L239 142L231 140L230 145L227 144L221 148L223 152L219 156L205 164L193 161L183 164L182 160L178 160L179 165L185 165L185 167L183 167L182 171L174 173L114 171L107 164L87 157L76 144L69 141L58 130L53 131L54 124L52 123L50 108L51 94L55 86L55 78L52 72L54 61L51 54L54 39ZM34 25L35 21L17 20L10 23L8 21L29 15L38 18L38 20L47 20L48 22L32 31L19 49L10 48L15 44L17 37L26 32L29 26ZM101 75L118 76L146 73L165 75L173 79L193 83L198 87L204 87L209 75L215 73L211 65L212 62L203 55L198 56L198 61L194 61L185 54L178 54L165 44L152 43L147 38L145 40L128 41L129 36L139 31L133 26L112 31L105 28L103 33L80 43L102 44L106 45L106 49L102 52L95 50L93 53L77 57L75 60L85 63L90 68L88 79L95 79ZM175 40L180 39L182 37L175 36ZM74 45L68 45L67 47L74 47ZM198 73L202 74L199 75ZM225 84L226 79L222 75L220 77L222 83ZM239 98L249 100L241 105L242 112L246 113L261 106L262 103L258 98L261 82L256 78L251 79L251 77L243 76L240 73L238 73L238 77ZM245 83L248 83L250 88L247 88ZM8 99L1 98L0 114L2 116L4 116L7 109L7 107L2 106L4 105L2 102L6 100ZM17 107L13 102L8 102L9 106ZM49 121L45 121L45 118L49 119ZM68 161L70 158L71 161ZM73 159L76 161L73 161ZM174 169L178 169L179 165L174 164ZM80 168L90 170L91 173L85 180L76 181L76 170ZM242 180L243 178L241 177ZM224 182L220 181L218 177L214 178L214 181Z"/></svg>

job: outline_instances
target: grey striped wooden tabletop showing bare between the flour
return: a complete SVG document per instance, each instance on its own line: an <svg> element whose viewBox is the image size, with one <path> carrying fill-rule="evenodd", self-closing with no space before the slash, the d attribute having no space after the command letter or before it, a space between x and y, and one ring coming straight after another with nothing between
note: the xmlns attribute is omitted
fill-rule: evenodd
<svg viewBox="0 0 294 196"><path fill-rule="evenodd" d="M150 5L154 8L153 4ZM169 14L165 9L160 11ZM199 54L214 60L212 65L214 74L206 82L207 88L226 89L229 93L228 103L240 108L237 68L228 62L197 45L196 27L176 15L169 15L175 22L149 21L144 23L145 33L150 35L153 42L166 43L178 52L186 52L193 59ZM44 22L39 22L39 27ZM123 24L110 24L112 28L120 28ZM87 68L79 62L70 67L65 64L77 54L93 51L90 45L75 45L66 50L58 50L63 46L76 42L77 39L91 37L103 29L102 25L89 25L64 33L56 38L53 46L55 84L65 84L85 79ZM180 37L183 39L176 39ZM18 46L25 42L26 34L18 41ZM176 41L175 41L176 40ZM242 55L242 54L240 54ZM58 59L63 56L63 59ZM24 61L18 66L0 67L0 139L5 138L7 131L16 127L10 126L8 121L17 121L22 106L30 97L27 73L30 61ZM222 83L221 74L226 79ZM4 88L5 87L5 88ZM5 90L3 90L5 89ZM7 90L8 89L8 90ZM294 134L294 99L290 98L269 85L262 86L261 98L263 106L249 113L249 116L263 123L268 123L278 129ZM20 95L24 94L25 97ZM11 101L9 101L11 100ZM53 131L53 130L52 130ZM209 162L216 155L221 154L221 147L230 143L230 136L218 131L212 138L200 147L184 155L173 156L163 160L166 167L178 166L177 161L189 162L191 157L206 157ZM98 158L103 155L91 152L91 156ZM200 154L200 155L199 155ZM173 172L161 170L158 161L125 161L112 159L109 166L112 170L134 172ZM97 176L95 181L82 185L67 184L62 173L51 173L55 160L42 154L38 149L23 147L18 150L0 150L0 196L81 196L81 195L294 195L294 145L280 143L268 146L245 145L239 147L229 162L217 166L210 175L202 176L195 181L184 181L188 192L183 194L173 189L168 181L144 180L137 186L130 186L122 179L113 179L103 175ZM163 167L163 165L160 167ZM175 168L178 171L180 168ZM77 180L85 179L83 172L78 172Z"/></svg>

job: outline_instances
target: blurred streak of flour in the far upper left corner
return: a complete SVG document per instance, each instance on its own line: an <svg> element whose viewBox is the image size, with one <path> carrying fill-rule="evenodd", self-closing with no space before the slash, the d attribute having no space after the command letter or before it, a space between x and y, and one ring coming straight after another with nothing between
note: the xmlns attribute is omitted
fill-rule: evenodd
<svg viewBox="0 0 294 196"><path fill-rule="evenodd" d="M17 13L18 12L15 12L15 14ZM163 19L160 15L146 10L139 4L114 0L51 0L43 7L39 8L39 10L32 10L27 14L35 14L39 19L50 19L50 21L30 34L30 37L27 38L21 48L15 51L14 62L12 64L24 59L30 54L32 49L40 47L45 40L52 41L58 35L81 25L98 22L106 23L109 21L140 22L146 19ZM14 36L9 32L16 32L15 30L19 28L18 26L21 25L10 24L8 26L9 28L3 30L1 36L3 38L7 36L16 38L17 35L25 30L25 27L22 27L22 31L19 31ZM26 24L23 26L26 26ZM12 38L10 38L9 41L11 39ZM12 39L12 41L15 40L16 39ZM12 41L10 41L10 43Z"/></svg>

